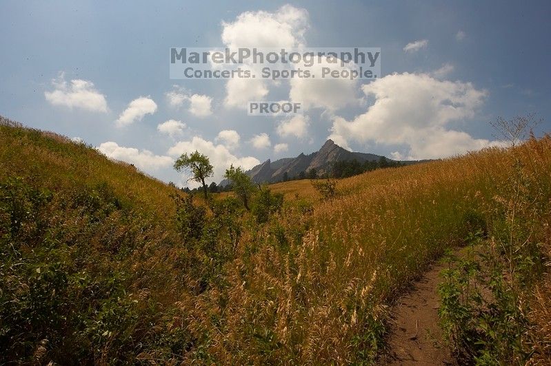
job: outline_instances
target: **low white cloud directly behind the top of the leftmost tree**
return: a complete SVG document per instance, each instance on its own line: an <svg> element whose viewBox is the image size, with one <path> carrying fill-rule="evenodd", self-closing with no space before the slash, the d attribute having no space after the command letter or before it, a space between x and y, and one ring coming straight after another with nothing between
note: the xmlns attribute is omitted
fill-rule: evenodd
<svg viewBox="0 0 551 366"><path fill-rule="evenodd" d="M214 176L212 177L214 182L220 182L223 179L223 175L230 164L241 166L245 170L260 164L257 158L253 158L252 156L238 158L223 144L214 144L198 136L194 136L192 140L180 141L174 144L168 150L168 155L178 157L182 153L192 153L196 150L208 156L210 164L214 167Z"/></svg>

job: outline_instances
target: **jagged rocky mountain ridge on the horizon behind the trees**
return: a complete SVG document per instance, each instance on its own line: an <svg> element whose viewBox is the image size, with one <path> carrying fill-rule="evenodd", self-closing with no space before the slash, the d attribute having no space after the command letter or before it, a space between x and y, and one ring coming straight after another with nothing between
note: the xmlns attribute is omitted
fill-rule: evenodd
<svg viewBox="0 0 551 366"><path fill-rule="evenodd" d="M333 140L327 140L319 151L308 155L301 153L297 158L283 158L274 162L268 159L246 173L254 182L274 183L283 181L285 173L288 178L297 177L301 172L308 173L312 169L316 169L318 175L330 174L334 162L343 160L378 161L381 158L383 158L381 155L348 151L335 144ZM228 182L223 180L220 184L225 186Z"/></svg>

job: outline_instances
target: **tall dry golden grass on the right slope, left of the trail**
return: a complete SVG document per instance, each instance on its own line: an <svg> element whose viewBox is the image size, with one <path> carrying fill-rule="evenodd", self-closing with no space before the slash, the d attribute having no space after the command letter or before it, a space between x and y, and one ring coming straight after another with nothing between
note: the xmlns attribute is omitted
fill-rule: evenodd
<svg viewBox="0 0 551 366"><path fill-rule="evenodd" d="M317 201L312 227L287 250L277 250L266 228L258 233L264 245L243 237L243 257L250 246L257 252L248 263L239 260L228 268L232 305L226 312L231 324L212 352L226 350L225 337L232 338L235 347L254 344L253 332L282 343L257 345L270 348L273 358L268 359L274 362L346 363L366 353L369 359L385 306L445 248L462 243L468 213L490 215L494 196L512 174L516 158L525 163L526 174L548 189L551 139L546 137L513 151L487 149L341 180L341 196ZM270 187L286 197L298 193L316 200L308 184ZM300 222L293 215L278 219L286 232ZM243 324L254 330L243 330ZM267 360L245 352L239 362L250 359Z"/></svg>

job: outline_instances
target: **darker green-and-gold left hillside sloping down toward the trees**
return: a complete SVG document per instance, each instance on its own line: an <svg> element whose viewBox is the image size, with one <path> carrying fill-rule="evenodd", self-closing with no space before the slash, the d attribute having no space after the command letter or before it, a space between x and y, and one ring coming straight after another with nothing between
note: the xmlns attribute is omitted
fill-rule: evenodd
<svg viewBox="0 0 551 366"><path fill-rule="evenodd" d="M178 261L188 257L166 219L173 191L83 144L4 122L0 362L108 363L162 343L152 325L184 291Z"/></svg>

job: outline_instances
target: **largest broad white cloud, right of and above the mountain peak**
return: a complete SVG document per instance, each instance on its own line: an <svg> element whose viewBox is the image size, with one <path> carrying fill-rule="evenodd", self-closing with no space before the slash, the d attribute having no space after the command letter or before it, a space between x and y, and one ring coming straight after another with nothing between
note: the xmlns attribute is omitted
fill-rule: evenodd
<svg viewBox="0 0 551 366"><path fill-rule="evenodd" d="M487 92L471 83L438 80L428 74L392 74L363 85L374 104L351 121L334 118L332 138L375 142L405 149L395 155L441 158L477 150L494 142L448 128L450 122L473 118Z"/></svg>

